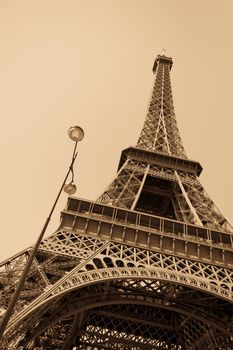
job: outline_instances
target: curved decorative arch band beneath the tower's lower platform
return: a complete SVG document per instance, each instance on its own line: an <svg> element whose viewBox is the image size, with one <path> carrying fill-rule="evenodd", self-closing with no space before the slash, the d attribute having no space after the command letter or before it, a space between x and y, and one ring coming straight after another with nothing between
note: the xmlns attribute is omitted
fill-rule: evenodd
<svg viewBox="0 0 233 350"><path fill-rule="evenodd" d="M84 288L88 285L98 284L100 281L107 282L117 280L140 280L142 283L146 280L169 282L174 285L189 286L191 289L203 291L217 298L232 302L232 292L229 289L213 284L211 281L205 280L204 278L189 276L168 269L141 267L95 269L65 276L58 286L55 285L48 288L44 292L45 298L43 298L43 295L40 296L14 317L9 325L8 332L11 333L13 327L15 329L17 324L19 325L24 320L30 318L30 315L36 313L38 309L43 310L45 305L48 306L50 303L54 302L56 298L60 298L64 294Z"/></svg>

